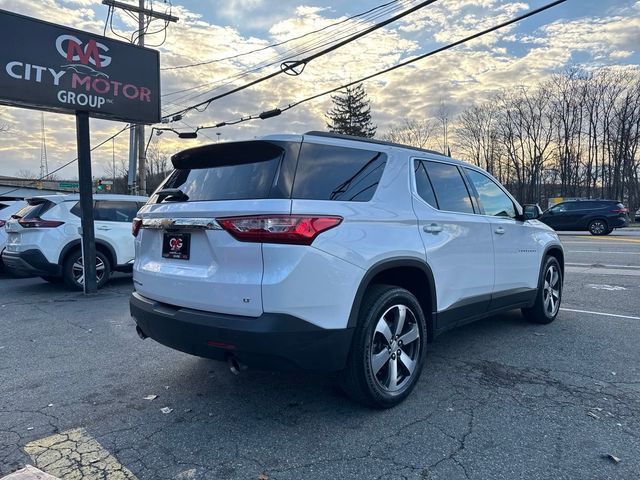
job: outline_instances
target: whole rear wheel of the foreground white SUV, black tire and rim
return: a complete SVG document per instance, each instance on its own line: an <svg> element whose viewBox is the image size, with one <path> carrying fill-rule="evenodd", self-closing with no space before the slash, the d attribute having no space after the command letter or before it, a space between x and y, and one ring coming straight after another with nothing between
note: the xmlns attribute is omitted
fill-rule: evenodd
<svg viewBox="0 0 640 480"><path fill-rule="evenodd" d="M403 308L404 321L398 333ZM382 322L387 327L385 333ZM373 285L360 308L340 386L352 399L370 407L398 405L420 378L426 351L427 324L416 297L404 288ZM378 368L374 371L376 359Z"/></svg>

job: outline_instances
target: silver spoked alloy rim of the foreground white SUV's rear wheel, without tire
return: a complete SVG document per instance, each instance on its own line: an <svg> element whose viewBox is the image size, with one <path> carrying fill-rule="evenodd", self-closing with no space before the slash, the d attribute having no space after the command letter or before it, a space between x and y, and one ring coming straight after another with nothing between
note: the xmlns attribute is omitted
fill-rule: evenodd
<svg viewBox="0 0 640 480"><path fill-rule="evenodd" d="M420 329L413 311L398 304L379 318L371 340L371 369L382 389L395 393L410 383L420 356Z"/></svg>

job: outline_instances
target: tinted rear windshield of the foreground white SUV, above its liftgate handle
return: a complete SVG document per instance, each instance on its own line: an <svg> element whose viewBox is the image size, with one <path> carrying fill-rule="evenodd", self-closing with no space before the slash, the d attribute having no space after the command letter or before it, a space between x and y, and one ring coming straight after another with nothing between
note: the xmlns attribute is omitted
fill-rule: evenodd
<svg viewBox="0 0 640 480"><path fill-rule="evenodd" d="M181 160L179 166L193 163L196 168L174 170L156 191L152 203L272 198L286 149L271 144L270 148L260 150L256 144L260 145L259 142L227 144L223 148L214 145L196 152L198 156L193 159ZM185 197L163 197L161 192L166 189L178 189Z"/></svg>

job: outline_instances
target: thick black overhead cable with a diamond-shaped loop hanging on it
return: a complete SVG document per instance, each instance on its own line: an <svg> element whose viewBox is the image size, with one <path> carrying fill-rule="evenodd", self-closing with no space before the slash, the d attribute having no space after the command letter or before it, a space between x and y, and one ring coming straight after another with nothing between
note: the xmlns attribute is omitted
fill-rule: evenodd
<svg viewBox="0 0 640 480"><path fill-rule="evenodd" d="M421 2L418 5L416 5L415 7L409 8L408 10L405 10L404 12L402 12L402 13L400 13L398 15L395 15L395 16L387 19L387 20L384 20L382 22L376 23L375 25L373 25L372 27L364 30L363 32L360 32L360 33L358 33L356 35L353 35L353 36L351 36L351 37L349 37L349 38L347 38L347 39L345 39L345 40L343 40L343 41L341 41L341 42L339 42L339 43L337 43L335 45L332 45L331 47L325 48L324 50L321 50L321 51L319 51L317 53L314 53L313 55L310 55L310 56L308 56L308 57L306 57L306 58L304 58L302 60L283 63L282 64L282 68L277 72L273 72L273 73L271 73L269 75L266 75L264 77L258 78L256 80L253 80L252 82L246 83L246 84L241 85L241 86L236 87L236 88L233 88L233 89L231 89L231 90L229 90L229 91L227 91L225 93L221 93L219 95L215 95L215 96L213 96L211 98L208 98L207 100L204 100L204 101L199 102L199 103L197 103L195 105L192 105L191 107L184 108L184 109L182 109L182 110L180 110L178 112L175 112L175 113L173 113L171 115L165 115L164 118L165 119L167 119L167 118L172 119L172 117L181 117L182 115L184 115L185 113L189 112L190 110L195 110L195 109L198 109L199 107L204 107L202 109L202 111L204 111L215 100L219 100L219 99L224 98L224 97L226 97L228 95L231 95L233 93L237 93L237 92L239 92L241 90L244 90L246 88L252 87L253 85L256 85L258 83L264 82L266 80L269 80L269 79L271 79L271 78L273 78L273 77L275 77L277 75L281 75L283 73L290 73L292 75L300 75L303 72L305 66L309 62L311 62L312 60L315 60L318 57L321 57L323 55L326 55L327 53L330 53L330 52L332 52L334 50L337 50L337 49L343 47L344 45L347 45L348 43L354 42L355 40L358 40L359 38L362 38L365 35L368 35L368 34L370 34L371 32L373 32L375 30L378 30L378 29L380 29L382 27L385 27L386 25L389 25L390 23L395 22L396 20L399 20L400 18L406 17L407 15L409 15L409 14L411 14L411 13L417 11L417 10L420 10L420 9L422 9L422 8L428 6L428 5L431 5L432 3L435 3L437 1L438 0L426 0L424 2ZM299 71L296 70L296 69L298 69L300 67L302 67L302 68Z"/></svg>

